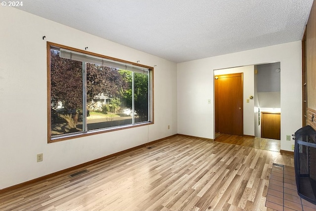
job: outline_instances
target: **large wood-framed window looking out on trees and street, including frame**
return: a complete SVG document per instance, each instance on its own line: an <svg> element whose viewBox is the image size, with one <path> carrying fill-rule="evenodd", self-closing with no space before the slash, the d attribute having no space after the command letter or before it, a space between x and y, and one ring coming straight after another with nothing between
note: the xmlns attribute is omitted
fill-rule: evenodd
<svg viewBox="0 0 316 211"><path fill-rule="evenodd" d="M150 67L54 43L48 48L48 142L153 122Z"/></svg>

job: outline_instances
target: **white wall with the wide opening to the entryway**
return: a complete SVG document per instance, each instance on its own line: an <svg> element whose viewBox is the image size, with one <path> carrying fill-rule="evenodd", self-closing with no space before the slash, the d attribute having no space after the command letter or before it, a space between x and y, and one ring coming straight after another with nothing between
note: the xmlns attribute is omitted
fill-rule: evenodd
<svg viewBox="0 0 316 211"><path fill-rule="evenodd" d="M281 150L292 151L286 135L302 127L300 41L177 64L178 133L214 138L214 70L271 62L281 64Z"/></svg>

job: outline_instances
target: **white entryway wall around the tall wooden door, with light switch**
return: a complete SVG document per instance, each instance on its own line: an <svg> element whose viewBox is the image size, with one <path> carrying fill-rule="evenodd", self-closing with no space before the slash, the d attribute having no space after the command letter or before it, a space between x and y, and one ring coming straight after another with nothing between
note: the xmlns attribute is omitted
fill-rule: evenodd
<svg viewBox="0 0 316 211"><path fill-rule="evenodd" d="M249 99L250 95L254 96L254 66L250 65L214 71L215 76L233 73L243 73L243 134L255 135L254 99ZM247 103L247 99L249 99L249 103Z"/></svg>

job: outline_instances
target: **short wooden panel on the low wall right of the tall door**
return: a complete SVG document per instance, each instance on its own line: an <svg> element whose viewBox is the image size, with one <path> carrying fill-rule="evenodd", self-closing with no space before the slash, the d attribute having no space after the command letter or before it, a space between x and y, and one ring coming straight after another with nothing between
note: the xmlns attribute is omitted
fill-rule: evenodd
<svg viewBox="0 0 316 211"><path fill-rule="evenodd" d="M261 112L261 137L280 140L281 114Z"/></svg>

